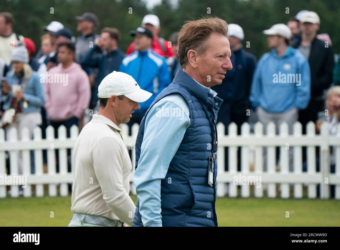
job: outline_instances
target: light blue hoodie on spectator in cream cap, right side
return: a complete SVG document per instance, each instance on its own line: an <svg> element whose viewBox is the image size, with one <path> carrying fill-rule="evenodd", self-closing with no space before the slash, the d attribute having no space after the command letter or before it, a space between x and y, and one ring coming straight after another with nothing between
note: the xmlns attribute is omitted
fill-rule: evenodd
<svg viewBox="0 0 340 250"><path fill-rule="evenodd" d="M254 72L249 99L254 108L260 105L270 113L305 109L310 100L308 61L291 46L283 57L278 57L275 49L263 54Z"/></svg>

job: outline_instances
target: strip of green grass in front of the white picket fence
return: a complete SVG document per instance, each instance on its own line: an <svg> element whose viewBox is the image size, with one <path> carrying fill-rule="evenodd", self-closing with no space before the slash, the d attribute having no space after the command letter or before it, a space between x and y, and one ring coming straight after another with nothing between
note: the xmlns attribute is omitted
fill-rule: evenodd
<svg viewBox="0 0 340 250"><path fill-rule="evenodd" d="M136 202L136 196L131 198ZM70 209L71 197L4 198L0 199L0 226L64 227ZM216 212L219 226L340 226L337 200L218 198Z"/></svg>

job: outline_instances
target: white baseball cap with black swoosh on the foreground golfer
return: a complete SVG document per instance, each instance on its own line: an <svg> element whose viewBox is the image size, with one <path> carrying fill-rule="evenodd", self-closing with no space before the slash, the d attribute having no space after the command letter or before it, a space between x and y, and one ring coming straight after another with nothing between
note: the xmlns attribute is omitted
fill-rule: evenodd
<svg viewBox="0 0 340 250"><path fill-rule="evenodd" d="M109 73L98 86L99 98L110 98L112 95L124 95L135 102L145 102L152 93L141 89L135 79L123 72Z"/></svg>

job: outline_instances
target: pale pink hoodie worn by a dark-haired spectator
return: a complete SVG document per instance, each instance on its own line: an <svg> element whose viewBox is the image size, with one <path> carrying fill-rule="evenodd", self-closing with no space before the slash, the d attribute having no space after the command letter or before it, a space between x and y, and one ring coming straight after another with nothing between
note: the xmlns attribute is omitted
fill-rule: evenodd
<svg viewBox="0 0 340 250"><path fill-rule="evenodd" d="M66 69L59 63L48 74L40 74L45 82L45 109L52 121L64 121L73 116L81 118L91 98L91 87L86 72L78 63Z"/></svg>

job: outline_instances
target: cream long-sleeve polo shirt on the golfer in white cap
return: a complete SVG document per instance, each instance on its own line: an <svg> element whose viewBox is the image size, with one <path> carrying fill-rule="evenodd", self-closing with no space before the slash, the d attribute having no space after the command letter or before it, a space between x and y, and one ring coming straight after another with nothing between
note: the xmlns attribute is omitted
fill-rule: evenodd
<svg viewBox="0 0 340 250"><path fill-rule="evenodd" d="M119 131L102 115L94 115L82 129L73 150L71 211L132 225L136 210L129 196L132 164Z"/></svg>

